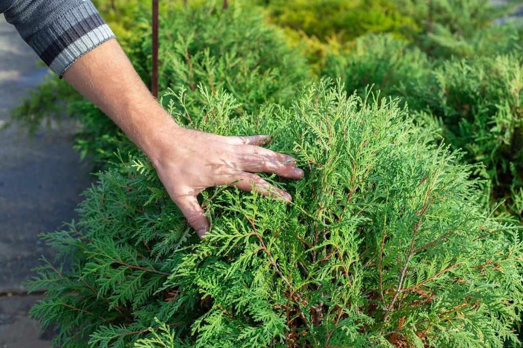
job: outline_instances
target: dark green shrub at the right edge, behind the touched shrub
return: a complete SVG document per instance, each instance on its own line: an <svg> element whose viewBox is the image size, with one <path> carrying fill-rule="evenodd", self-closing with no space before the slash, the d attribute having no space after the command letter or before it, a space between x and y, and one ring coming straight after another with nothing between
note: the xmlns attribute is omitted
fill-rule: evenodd
<svg viewBox="0 0 523 348"><path fill-rule="evenodd" d="M450 61L435 69L429 84L420 83L411 108L422 111L453 148L467 152L466 163L490 179L488 203L505 207L521 221L523 205L523 65L520 55ZM417 105L416 105L417 104Z"/></svg>

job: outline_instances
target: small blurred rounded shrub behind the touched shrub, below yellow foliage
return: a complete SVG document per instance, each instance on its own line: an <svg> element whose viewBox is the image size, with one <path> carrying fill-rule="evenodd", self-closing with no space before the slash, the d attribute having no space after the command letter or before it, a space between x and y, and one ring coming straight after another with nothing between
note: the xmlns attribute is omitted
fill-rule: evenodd
<svg viewBox="0 0 523 348"><path fill-rule="evenodd" d="M425 53L391 34L367 34L349 52L327 57L321 74L341 77L346 90L363 94L369 85L382 96L410 95L414 84L423 83L433 66Z"/></svg>

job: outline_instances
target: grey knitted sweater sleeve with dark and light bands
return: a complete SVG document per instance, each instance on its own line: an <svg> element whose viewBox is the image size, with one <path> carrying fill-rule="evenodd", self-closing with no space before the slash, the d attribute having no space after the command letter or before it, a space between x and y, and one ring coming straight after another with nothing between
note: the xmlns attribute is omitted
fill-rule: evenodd
<svg viewBox="0 0 523 348"><path fill-rule="evenodd" d="M62 78L79 57L115 34L89 0L0 0L0 13Z"/></svg>

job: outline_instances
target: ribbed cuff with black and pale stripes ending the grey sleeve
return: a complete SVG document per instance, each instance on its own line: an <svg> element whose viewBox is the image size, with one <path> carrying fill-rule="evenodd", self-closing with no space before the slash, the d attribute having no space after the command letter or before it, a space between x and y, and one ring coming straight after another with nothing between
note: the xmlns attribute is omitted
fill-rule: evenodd
<svg viewBox="0 0 523 348"><path fill-rule="evenodd" d="M28 43L52 72L62 78L66 69L79 57L114 37L115 34L88 1L39 30Z"/></svg>

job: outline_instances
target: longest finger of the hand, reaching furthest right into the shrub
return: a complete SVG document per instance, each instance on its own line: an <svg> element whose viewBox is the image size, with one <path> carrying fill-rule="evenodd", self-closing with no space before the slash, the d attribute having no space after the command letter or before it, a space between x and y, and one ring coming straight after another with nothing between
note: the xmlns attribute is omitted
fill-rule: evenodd
<svg viewBox="0 0 523 348"><path fill-rule="evenodd" d="M237 168L251 173L275 173L277 176L290 179L301 179L303 170L294 168L295 162L283 164L273 158L263 155L237 155L240 159Z"/></svg>

